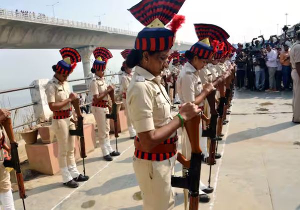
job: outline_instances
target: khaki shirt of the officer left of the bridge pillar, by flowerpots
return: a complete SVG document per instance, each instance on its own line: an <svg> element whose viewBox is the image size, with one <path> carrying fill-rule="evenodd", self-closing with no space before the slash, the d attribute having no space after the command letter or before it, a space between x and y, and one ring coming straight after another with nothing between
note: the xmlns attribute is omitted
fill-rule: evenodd
<svg viewBox="0 0 300 210"><path fill-rule="evenodd" d="M69 97L70 88L67 81L61 83L57 78L53 78L47 83L45 88L45 93L47 95L48 103L60 102ZM67 103L61 108L61 110L66 110L71 107L71 103Z"/></svg>

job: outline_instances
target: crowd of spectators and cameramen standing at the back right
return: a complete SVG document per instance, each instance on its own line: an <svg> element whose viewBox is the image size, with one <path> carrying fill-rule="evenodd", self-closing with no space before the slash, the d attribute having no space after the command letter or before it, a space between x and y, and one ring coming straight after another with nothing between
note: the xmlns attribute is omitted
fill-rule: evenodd
<svg viewBox="0 0 300 210"><path fill-rule="evenodd" d="M258 38L261 38L259 40ZM291 41L276 35L265 41L262 35L253 38L245 47L238 43L235 62L237 89L282 91L292 89L289 51Z"/></svg>

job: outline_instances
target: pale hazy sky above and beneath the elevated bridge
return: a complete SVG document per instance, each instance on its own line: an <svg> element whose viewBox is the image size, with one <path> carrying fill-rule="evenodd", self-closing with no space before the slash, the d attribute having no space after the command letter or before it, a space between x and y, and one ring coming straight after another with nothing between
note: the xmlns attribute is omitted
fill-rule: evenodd
<svg viewBox="0 0 300 210"><path fill-rule="evenodd" d="M52 7L57 0L0 0L0 8L28 10L52 16ZM55 16L97 24L101 15L102 25L134 31L142 25L127 11L139 0L59 0L55 5ZM209 7L210 6L210 7ZM179 11L186 17L186 23L177 33L177 39L195 42L193 23L212 23L221 26L229 34L230 42L250 41L263 34L265 37L277 32L285 24L300 21L299 0L186 0ZM104 15L105 13L105 15ZM113 50L114 58L109 63L118 71L122 58L119 50ZM51 65L61 59L57 49L0 49L0 89L28 85L37 78L50 78ZM83 76L82 65L72 73L71 78ZM1 100L1 95L0 95Z"/></svg>

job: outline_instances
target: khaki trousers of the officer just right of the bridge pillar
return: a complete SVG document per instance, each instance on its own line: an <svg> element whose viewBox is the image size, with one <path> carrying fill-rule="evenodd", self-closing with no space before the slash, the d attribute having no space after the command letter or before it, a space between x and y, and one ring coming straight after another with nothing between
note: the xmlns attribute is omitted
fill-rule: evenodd
<svg viewBox="0 0 300 210"><path fill-rule="evenodd" d="M98 127L99 143L103 156L111 153L113 149L110 146L109 141L109 119L106 118L106 114L109 113L108 108L91 106L91 112L95 117Z"/></svg>

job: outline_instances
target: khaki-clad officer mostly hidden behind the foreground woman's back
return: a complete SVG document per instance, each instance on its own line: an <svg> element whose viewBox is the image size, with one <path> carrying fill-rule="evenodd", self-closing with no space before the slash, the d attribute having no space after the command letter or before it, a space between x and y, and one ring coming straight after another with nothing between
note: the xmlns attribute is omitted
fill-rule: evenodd
<svg viewBox="0 0 300 210"><path fill-rule="evenodd" d="M128 107L127 107L127 102L126 102L126 96L127 96L127 88L128 85L131 81L131 68L129 68L126 64L126 62L124 61L121 67L121 70L123 71L123 75L121 78L121 85L122 85L122 95L123 95L123 104L125 106L125 114L126 114L126 118L127 118L127 125L128 125L128 131L129 131L129 137L130 138L134 138L136 133L135 130L133 128L130 116L128 114Z"/></svg>

